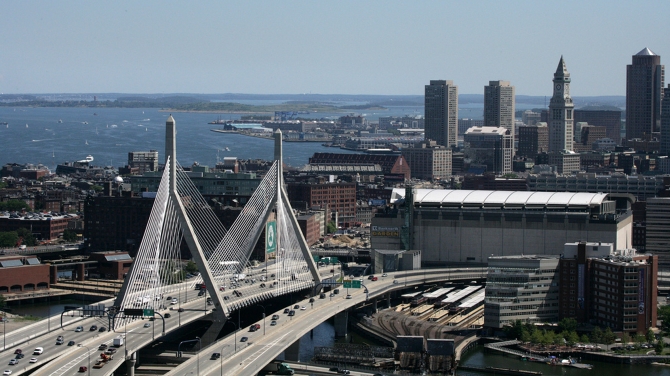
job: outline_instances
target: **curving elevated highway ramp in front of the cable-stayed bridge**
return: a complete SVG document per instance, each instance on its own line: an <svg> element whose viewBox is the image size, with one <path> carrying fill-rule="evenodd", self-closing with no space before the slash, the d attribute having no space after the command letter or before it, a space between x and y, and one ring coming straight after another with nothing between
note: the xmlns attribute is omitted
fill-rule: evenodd
<svg viewBox="0 0 670 376"><path fill-rule="evenodd" d="M255 375L311 329L337 312L365 302L367 298L424 283L485 277L485 268L472 268L460 271L429 269L409 273L396 272L375 282L364 279L363 283L368 288L369 296L366 296L368 294L363 288L349 289L351 299L347 299L347 289L339 288L340 293L333 297L330 295L326 295L325 299L315 297L313 305L307 299L300 301L296 304L304 306L305 310L295 310L295 316L289 317L281 313L282 310L277 313L280 317L276 326L269 325L271 321L269 318L265 322L259 321L260 330L250 332L247 328L246 332L237 333L236 338L232 336L223 338L201 351L199 356L191 357L176 367L168 375ZM286 308L292 309L292 307ZM268 316L272 314L269 313ZM248 338L246 342L240 342L243 336ZM212 353L220 353L221 357L213 360Z"/></svg>

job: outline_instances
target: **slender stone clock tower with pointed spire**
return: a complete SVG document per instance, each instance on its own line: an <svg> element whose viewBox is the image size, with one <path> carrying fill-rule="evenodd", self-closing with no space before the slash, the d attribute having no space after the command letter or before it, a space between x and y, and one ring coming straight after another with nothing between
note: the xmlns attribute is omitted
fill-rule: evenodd
<svg viewBox="0 0 670 376"><path fill-rule="evenodd" d="M554 95L549 102L549 152L572 151L573 109L570 73L563 56L554 73Z"/></svg>

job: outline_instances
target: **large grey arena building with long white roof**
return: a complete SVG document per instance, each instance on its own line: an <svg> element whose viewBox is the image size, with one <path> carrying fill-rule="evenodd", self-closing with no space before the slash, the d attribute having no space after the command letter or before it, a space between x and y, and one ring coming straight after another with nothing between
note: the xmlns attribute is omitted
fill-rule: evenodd
<svg viewBox="0 0 670 376"><path fill-rule="evenodd" d="M421 250L422 265L485 264L491 256L560 255L565 243L632 248L634 198L607 193L394 189L371 224L374 249ZM411 205L410 205L411 202Z"/></svg>

